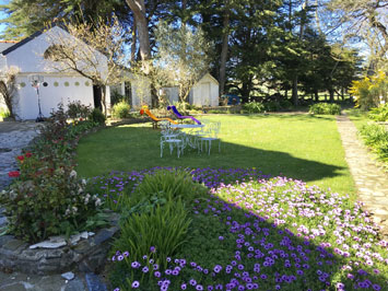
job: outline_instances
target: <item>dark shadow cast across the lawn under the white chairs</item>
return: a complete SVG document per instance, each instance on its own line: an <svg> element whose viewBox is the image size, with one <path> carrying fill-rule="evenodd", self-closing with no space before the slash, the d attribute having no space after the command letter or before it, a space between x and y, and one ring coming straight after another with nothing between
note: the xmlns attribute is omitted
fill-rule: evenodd
<svg viewBox="0 0 388 291"><path fill-rule="evenodd" d="M346 175L345 167L309 161L280 151L268 151L237 143L212 143L211 154L185 150L160 151L160 131L148 127L116 127L83 138L78 147L78 172L93 177L110 171L132 171L154 166L238 168L256 167L264 174L285 175L304 182ZM260 144L258 144L260 147Z"/></svg>

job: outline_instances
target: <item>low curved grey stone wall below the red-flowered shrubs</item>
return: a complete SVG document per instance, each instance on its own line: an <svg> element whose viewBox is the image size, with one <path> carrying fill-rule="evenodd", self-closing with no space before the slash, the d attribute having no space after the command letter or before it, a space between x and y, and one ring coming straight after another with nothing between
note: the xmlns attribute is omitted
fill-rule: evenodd
<svg viewBox="0 0 388 291"><path fill-rule="evenodd" d="M98 272L107 261L111 238L118 233L118 216L111 216L111 226L96 233L83 232L28 245L12 235L0 236L0 270L51 275L70 270Z"/></svg>

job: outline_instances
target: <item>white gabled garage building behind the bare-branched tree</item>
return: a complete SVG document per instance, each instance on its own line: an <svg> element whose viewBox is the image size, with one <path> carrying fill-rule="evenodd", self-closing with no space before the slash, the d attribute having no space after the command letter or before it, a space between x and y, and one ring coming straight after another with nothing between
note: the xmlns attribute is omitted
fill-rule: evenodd
<svg viewBox="0 0 388 291"><path fill-rule="evenodd" d="M82 104L92 107L101 105L98 104L101 89L94 86L91 80L75 72L58 72L52 66L52 61L44 58L45 51L51 46L49 33L72 37L59 26L54 26L46 32L37 32L0 51L0 74L10 67L19 68L14 94L14 109L17 119L35 119L38 116L37 92L28 80L32 74L43 78L39 93L42 113L45 117L48 117L59 103L62 103L64 107L71 101L81 101ZM99 51L95 51L95 56L101 60L98 69L106 70L106 57ZM108 88L106 89L106 102L110 104Z"/></svg>

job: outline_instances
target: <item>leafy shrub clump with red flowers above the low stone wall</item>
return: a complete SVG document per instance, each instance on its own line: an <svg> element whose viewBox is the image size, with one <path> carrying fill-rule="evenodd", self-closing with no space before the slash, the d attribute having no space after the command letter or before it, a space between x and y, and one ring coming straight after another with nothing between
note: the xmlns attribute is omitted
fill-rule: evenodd
<svg viewBox="0 0 388 291"><path fill-rule="evenodd" d="M40 138L16 158L20 171L9 173L15 179L0 195L9 233L28 243L82 230L102 205L86 191L86 181L77 177L73 164L77 139L93 123L68 125L67 118L62 106L51 114Z"/></svg>

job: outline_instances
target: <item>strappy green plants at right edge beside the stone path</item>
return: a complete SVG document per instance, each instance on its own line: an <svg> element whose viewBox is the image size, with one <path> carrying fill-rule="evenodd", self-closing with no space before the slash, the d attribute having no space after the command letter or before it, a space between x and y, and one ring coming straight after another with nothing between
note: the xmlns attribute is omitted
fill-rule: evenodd
<svg viewBox="0 0 388 291"><path fill-rule="evenodd" d="M371 124L360 130L366 146L371 147L377 156L388 163L388 131L385 126Z"/></svg>

